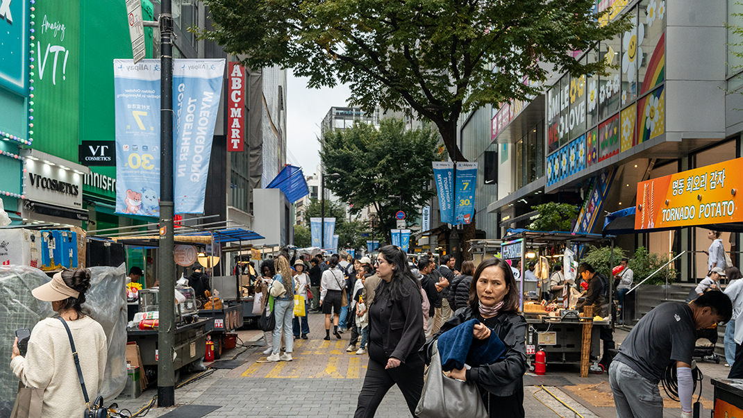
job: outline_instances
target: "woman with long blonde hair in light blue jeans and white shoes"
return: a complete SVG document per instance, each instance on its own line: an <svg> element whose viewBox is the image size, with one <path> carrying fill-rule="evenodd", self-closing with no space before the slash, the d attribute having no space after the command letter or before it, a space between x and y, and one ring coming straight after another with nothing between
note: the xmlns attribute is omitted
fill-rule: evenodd
<svg viewBox="0 0 743 418"><path fill-rule="evenodd" d="M284 255L276 258L276 275L273 281L281 282L284 286L285 293L278 298L273 298L273 316L276 319L276 327L273 328L273 354L267 357L269 362L291 362L291 353L293 351L292 338L292 319L294 318L294 281L291 277L291 267L289 261ZM286 344L286 353L279 356L281 350L282 331L284 333L284 342Z"/></svg>

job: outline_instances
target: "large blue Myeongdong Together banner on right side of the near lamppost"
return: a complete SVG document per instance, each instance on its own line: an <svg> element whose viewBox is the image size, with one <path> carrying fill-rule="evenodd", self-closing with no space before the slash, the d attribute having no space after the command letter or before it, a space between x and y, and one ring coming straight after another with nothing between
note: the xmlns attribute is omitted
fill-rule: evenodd
<svg viewBox="0 0 743 418"><path fill-rule="evenodd" d="M176 59L173 65L175 213L204 213L224 59Z"/></svg>

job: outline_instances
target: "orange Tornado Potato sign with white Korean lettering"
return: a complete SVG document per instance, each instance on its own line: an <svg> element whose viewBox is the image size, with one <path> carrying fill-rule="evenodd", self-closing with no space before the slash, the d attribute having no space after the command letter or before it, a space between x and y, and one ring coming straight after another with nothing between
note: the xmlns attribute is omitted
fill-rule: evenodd
<svg viewBox="0 0 743 418"><path fill-rule="evenodd" d="M637 183L635 229L742 222L743 158Z"/></svg>

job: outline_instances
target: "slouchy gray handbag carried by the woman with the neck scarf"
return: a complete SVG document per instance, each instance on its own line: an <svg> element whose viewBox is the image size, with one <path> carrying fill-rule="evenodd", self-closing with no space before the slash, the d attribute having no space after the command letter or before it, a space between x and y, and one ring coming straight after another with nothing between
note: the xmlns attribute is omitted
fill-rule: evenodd
<svg viewBox="0 0 743 418"><path fill-rule="evenodd" d="M490 397L488 397L490 399ZM482 402L477 385L444 376L438 341L433 344L431 365L426 370L426 383L421 400L415 408L421 418L487 418L487 408Z"/></svg>

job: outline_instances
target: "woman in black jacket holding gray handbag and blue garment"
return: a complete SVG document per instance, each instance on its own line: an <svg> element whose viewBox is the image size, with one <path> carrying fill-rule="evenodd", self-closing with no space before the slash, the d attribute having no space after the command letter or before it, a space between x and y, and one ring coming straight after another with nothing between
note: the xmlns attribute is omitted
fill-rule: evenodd
<svg viewBox="0 0 743 418"><path fill-rule="evenodd" d="M421 349L431 367L415 414L523 418L526 327L510 267L500 258L488 258L475 270L467 306L459 308ZM452 333L442 336L449 330ZM439 341L444 337L448 341ZM462 342L467 343L464 352ZM501 349L493 355L496 346ZM464 362L471 368L465 368ZM448 377L441 370L449 371ZM443 397L437 402L438 391Z"/></svg>

